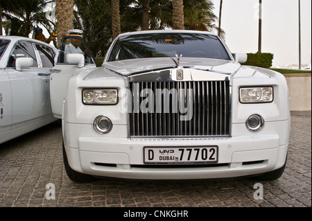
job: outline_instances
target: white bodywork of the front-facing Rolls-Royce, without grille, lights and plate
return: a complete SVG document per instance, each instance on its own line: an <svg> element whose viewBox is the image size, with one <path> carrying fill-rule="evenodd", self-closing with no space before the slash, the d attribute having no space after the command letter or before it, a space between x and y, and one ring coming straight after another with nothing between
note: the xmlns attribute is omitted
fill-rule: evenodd
<svg viewBox="0 0 312 221"><path fill-rule="evenodd" d="M174 68L170 58L155 58L153 62L149 58L107 62L105 58L102 67L71 76L62 112L64 151L70 168L78 173L101 177L207 179L258 175L283 167L286 163L291 123L286 80L275 71L241 66L234 61L232 55L231 59L182 57L180 67ZM177 80L177 69L183 69L184 80L229 80L230 136L130 138L127 103L123 102L125 94L122 91L127 89L128 78L132 77L132 73L139 75L154 69L169 69L173 80ZM241 87L266 85L274 91L271 103L239 102ZM118 89L119 103L84 105L82 91L85 88ZM246 128L245 122L251 114L263 117L265 123L261 131L250 132ZM112 121L112 130L107 134L98 134L94 130L93 122L99 115L105 115ZM187 148L209 145L218 146L218 163L211 167L157 168L144 164L146 146Z"/></svg>

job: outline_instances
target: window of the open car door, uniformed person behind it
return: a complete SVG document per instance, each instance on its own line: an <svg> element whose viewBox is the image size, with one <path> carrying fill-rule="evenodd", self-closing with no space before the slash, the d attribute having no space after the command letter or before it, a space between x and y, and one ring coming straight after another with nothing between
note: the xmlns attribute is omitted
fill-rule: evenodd
<svg viewBox="0 0 312 221"><path fill-rule="evenodd" d="M85 56L85 64L94 64L92 56L87 51L85 44L78 38L67 38L66 42L60 46L58 54L58 63L66 64L66 55L69 53L80 53Z"/></svg>

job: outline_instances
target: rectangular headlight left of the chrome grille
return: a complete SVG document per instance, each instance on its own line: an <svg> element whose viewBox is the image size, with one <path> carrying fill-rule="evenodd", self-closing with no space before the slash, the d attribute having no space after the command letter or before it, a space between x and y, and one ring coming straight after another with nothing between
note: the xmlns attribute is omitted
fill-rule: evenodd
<svg viewBox="0 0 312 221"><path fill-rule="evenodd" d="M83 89L85 105L116 105L118 103L117 89Z"/></svg>

